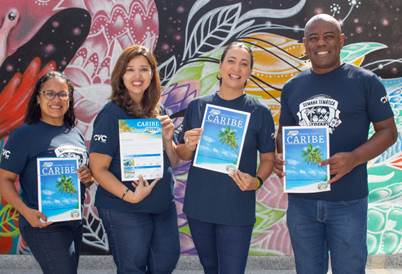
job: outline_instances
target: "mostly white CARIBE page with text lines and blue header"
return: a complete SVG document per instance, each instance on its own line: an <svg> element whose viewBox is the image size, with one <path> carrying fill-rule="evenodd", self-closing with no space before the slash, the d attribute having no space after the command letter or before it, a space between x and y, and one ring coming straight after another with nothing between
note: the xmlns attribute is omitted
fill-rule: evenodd
<svg viewBox="0 0 402 274"><path fill-rule="evenodd" d="M119 120L122 181L163 176L162 125L156 118Z"/></svg>

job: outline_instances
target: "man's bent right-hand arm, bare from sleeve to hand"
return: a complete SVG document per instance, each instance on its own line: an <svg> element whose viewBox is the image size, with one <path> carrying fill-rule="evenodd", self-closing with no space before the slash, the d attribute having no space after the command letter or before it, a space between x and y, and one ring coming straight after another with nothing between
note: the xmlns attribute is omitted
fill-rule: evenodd
<svg viewBox="0 0 402 274"><path fill-rule="evenodd" d="M373 124L375 133L361 146L351 152L340 152L321 162L321 165L330 165L331 175L335 175L329 182L334 183L348 174L356 166L364 164L383 153L395 143L398 132L393 118Z"/></svg>

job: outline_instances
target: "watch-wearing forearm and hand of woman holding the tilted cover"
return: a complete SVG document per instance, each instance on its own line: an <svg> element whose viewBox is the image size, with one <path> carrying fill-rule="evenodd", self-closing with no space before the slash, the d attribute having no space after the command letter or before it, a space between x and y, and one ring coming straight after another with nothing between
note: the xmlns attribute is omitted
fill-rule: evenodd
<svg viewBox="0 0 402 274"><path fill-rule="evenodd" d="M257 170L257 176L265 181L272 173L273 164L273 152L260 153L260 166ZM260 187L259 181L256 177L253 177L248 173L241 172L240 170L229 173L229 176L233 179L241 191L257 190Z"/></svg>

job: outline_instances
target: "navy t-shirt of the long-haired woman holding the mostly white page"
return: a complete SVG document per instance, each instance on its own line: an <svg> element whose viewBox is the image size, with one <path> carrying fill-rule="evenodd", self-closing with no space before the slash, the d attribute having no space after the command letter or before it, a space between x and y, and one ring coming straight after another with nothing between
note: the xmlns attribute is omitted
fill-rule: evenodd
<svg viewBox="0 0 402 274"><path fill-rule="evenodd" d="M114 102L107 103L94 122L90 153L96 152L112 157L109 171L121 181L119 119L133 119ZM99 208L115 209L124 212L160 213L172 206L173 203L173 175L170 161L163 153L163 177L155 185L151 194L137 204L126 202L113 195L100 185L96 191L95 205ZM132 182L122 182L134 191Z"/></svg>

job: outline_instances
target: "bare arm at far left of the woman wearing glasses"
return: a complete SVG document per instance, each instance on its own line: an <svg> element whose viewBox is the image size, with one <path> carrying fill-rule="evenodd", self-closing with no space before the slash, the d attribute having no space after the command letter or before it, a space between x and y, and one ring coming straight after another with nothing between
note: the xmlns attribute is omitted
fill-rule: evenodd
<svg viewBox="0 0 402 274"><path fill-rule="evenodd" d="M28 207L22 201L20 195L15 188L17 174L0 168L0 194L13 208L15 208L29 222L32 227L46 227L51 223L47 223L46 216L36 209ZM41 221L42 220L42 221ZM43 222L45 221L45 222Z"/></svg>

